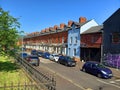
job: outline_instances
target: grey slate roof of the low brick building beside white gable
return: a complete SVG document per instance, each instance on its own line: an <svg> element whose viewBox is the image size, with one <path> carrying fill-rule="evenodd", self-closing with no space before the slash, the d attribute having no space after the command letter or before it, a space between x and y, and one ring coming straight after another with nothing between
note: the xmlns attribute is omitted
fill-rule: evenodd
<svg viewBox="0 0 120 90"><path fill-rule="evenodd" d="M89 33L97 33L97 32L102 32L103 29L103 25L99 25L99 26L93 26L90 29L84 31L81 34L89 34Z"/></svg>

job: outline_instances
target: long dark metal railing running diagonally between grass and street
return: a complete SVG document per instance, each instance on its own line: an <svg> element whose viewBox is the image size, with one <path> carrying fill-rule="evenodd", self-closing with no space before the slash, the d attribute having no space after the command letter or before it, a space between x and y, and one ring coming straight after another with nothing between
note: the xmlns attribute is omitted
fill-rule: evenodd
<svg viewBox="0 0 120 90"><path fill-rule="evenodd" d="M43 90L56 90L56 80L55 76L45 73L42 70L34 67L28 63L25 59L15 56L16 61L23 67L23 69L35 80L38 88L43 88Z"/></svg>

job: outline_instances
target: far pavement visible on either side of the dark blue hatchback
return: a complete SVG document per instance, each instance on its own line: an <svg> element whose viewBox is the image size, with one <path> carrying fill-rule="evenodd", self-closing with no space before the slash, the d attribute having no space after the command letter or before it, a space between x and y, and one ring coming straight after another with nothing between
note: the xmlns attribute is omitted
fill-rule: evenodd
<svg viewBox="0 0 120 90"><path fill-rule="evenodd" d="M84 63L85 63L85 62L78 61L76 67L81 70ZM111 67L108 67L108 68L110 68L110 69L112 70L113 76L114 76L116 79L120 79L120 69L111 68Z"/></svg>

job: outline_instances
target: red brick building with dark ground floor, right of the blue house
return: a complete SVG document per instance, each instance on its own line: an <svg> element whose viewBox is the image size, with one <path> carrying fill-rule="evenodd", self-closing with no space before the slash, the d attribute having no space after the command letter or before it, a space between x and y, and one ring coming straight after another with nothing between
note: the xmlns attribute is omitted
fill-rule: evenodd
<svg viewBox="0 0 120 90"><path fill-rule="evenodd" d="M81 59L99 61L101 59L102 26L91 27L81 36Z"/></svg>

